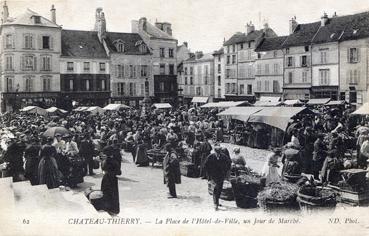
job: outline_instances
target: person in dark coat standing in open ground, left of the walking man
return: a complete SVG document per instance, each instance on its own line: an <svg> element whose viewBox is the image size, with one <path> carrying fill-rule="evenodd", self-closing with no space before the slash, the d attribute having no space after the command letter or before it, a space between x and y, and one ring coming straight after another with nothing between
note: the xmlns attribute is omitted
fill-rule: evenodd
<svg viewBox="0 0 369 236"><path fill-rule="evenodd" d="M181 172L176 151L171 143L165 145L167 154L163 160L164 184L169 189L168 198L177 198L176 184L181 183Z"/></svg>

